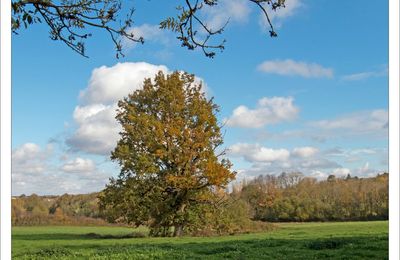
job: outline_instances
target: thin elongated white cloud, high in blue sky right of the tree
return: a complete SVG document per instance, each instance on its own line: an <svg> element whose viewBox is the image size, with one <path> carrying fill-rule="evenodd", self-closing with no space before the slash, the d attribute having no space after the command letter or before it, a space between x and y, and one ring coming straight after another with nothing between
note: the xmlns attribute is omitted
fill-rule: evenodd
<svg viewBox="0 0 400 260"><path fill-rule="evenodd" d="M332 78L333 69L325 68L316 63L302 61L269 60L258 65L259 71L284 76L302 76L305 78Z"/></svg>

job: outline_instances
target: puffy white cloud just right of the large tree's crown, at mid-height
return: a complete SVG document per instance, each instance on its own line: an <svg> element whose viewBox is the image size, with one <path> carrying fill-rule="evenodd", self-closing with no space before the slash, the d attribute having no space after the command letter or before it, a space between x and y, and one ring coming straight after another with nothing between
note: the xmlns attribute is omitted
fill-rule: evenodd
<svg viewBox="0 0 400 260"><path fill-rule="evenodd" d="M264 97L254 109L243 105L235 108L225 121L232 127L260 128L268 124L291 121L298 113L299 108L293 104L292 97Z"/></svg>

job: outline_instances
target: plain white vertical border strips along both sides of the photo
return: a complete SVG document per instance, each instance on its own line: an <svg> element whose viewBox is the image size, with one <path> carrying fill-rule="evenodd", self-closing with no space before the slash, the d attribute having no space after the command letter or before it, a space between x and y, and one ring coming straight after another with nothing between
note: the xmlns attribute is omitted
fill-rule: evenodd
<svg viewBox="0 0 400 260"><path fill-rule="evenodd" d="M11 259L11 1L0 1L0 252ZM399 1L389 0L389 257L399 259Z"/></svg>

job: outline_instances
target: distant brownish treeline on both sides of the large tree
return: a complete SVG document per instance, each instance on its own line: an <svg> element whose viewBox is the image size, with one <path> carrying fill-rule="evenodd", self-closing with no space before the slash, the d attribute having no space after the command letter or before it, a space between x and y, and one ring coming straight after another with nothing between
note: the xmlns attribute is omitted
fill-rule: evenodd
<svg viewBox="0 0 400 260"><path fill-rule="evenodd" d="M246 215L248 220L268 222L386 220L388 182L387 173L372 178L331 175L324 181L301 173L263 175L233 185L224 212L227 216L240 212L242 222ZM107 213L99 210L99 194L13 197L12 224L107 225Z"/></svg>

